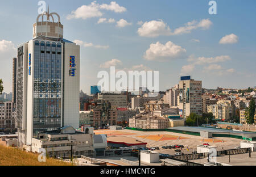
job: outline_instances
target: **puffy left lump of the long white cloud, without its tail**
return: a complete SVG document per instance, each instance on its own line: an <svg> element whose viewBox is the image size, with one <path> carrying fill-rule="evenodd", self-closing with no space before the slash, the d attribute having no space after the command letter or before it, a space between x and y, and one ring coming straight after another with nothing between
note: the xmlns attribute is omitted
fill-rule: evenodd
<svg viewBox="0 0 256 177"><path fill-rule="evenodd" d="M160 35L170 36L171 29L163 22L163 20L152 20L150 22L145 22L142 27L138 29L138 34L143 37L158 37Z"/></svg>

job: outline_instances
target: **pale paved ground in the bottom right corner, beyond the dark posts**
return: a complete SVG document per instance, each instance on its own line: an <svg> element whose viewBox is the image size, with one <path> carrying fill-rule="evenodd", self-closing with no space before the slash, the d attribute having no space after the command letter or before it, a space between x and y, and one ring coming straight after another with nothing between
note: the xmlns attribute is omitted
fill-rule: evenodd
<svg viewBox="0 0 256 177"><path fill-rule="evenodd" d="M191 162L204 164L205 162L207 162L207 159L196 159ZM256 152L251 153L251 158L249 157L249 153L230 155L230 163L229 155L217 157L217 162L226 163L234 166L256 166Z"/></svg>

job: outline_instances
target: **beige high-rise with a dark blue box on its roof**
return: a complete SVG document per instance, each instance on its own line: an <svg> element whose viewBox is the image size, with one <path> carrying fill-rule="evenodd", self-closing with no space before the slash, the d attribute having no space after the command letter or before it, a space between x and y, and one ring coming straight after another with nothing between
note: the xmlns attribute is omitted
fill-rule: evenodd
<svg viewBox="0 0 256 177"><path fill-rule="evenodd" d="M202 81L195 81L190 76L181 77L178 104L184 118L192 112L202 115Z"/></svg>

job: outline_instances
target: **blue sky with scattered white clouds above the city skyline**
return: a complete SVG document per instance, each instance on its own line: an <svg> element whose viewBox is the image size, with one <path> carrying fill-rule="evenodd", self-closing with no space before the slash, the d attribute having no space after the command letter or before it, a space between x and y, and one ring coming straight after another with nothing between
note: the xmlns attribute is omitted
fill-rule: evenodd
<svg viewBox="0 0 256 177"><path fill-rule="evenodd" d="M88 94L100 80L98 71L109 71L110 64L158 70L160 90L187 74L206 88L254 87L256 2L216 2L217 15L208 13L208 0L46 1L61 16L64 38L81 44L80 87ZM17 45L32 39L38 7L32 0L0 1L0 78L6 92L11 58Z"/></svg>

